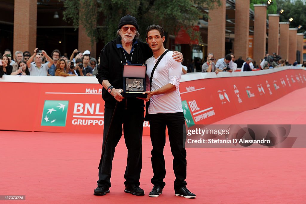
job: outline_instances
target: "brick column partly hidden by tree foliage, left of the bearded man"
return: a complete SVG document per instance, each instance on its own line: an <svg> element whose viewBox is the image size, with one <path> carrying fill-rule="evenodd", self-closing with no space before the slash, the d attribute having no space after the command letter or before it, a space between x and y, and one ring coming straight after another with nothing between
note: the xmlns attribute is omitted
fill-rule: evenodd
<svg viewBox="0 0 306 204"><path fill-rule="evenodd" d="M81 2L82 3L82 2ZM79 19L82 19L83 10L79 10ZM96 25L93 25L95 27ZM79 37L78 37L78 50L84 52L85 50L90 51L91 57L96 58L97 43L94 42L91 46L90 37L87 36L85 28L81 25L81 20L79 20ZM98 61L98 59L97 59Z"/></svg>

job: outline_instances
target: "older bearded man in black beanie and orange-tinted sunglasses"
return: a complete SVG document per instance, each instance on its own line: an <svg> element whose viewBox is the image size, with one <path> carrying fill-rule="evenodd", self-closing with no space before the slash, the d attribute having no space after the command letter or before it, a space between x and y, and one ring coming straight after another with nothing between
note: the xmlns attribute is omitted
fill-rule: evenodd
<svg viewBox="0 0 306 204"><path fill-rule="evenodd" d="M153 55L147 43L137 37L138 24L135 17L126 15L118 24L118 38L110 41L102 49L98 74L99 83L103 86L102 98L105 101L103 149L104 153L99 164L98 187L94 195L109 193L112 161L115 147L124 130L125 145L128 149L127 165L125 169L125 190L132 195L144 195L139 186L142 166L141 145L144 122L144 101L137 98L124 98L123 92L123 64L144 64ZM181 53L176 52L174 59L182 60ZM115 108L117 109L115 111ZM112 121L112 122L111 122ZM111 127L110 127L111 124ZM106 140L106 135L108 139ZM102 150L103 151L103 150Z"/></svg>

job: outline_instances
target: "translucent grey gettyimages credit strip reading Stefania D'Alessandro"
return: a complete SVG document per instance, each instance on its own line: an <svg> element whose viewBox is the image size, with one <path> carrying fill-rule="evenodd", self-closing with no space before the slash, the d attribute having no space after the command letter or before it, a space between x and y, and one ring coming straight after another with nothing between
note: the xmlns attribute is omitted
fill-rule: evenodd
<svg viewBox="0 0 306 204"><path fill-rule="evenodd" d="M306 125L193 125L185 147L306 147Z"/></svg>

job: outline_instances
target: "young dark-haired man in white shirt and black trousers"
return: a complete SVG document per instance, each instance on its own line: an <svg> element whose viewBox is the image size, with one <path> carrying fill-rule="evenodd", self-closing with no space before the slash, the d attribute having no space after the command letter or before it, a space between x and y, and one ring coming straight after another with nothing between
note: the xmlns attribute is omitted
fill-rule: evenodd
<svg viewBox="0 0 306 204"><path fill-rule="evenodd" d="M146 60L147 64L147 98L151 98L148 108L151 142L151 162L154 176L151 183L154 185L149 193L150 197L158 197L165 186L163 179L166 176L165 158L163 149L166 143L166 127L168 127L171 152L174 157L174 191L175 195L185 198L195 198L186 185L186 150L183 147L183 134L185 118L183 114L179 84L181 79L181 63L172 59L172 51L169 51L159 62L155 69L150 91L150 77L153 67L166 51L164 30L159 25L151 25L146 31L146 41L153 51L153 56ZM146 113L147 114L147 113Z"/></svg>

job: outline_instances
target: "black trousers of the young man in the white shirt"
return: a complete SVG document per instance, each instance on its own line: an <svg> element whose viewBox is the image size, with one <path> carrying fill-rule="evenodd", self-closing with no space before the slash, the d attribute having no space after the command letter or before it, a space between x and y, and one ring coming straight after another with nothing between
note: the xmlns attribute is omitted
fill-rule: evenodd
<svg viewBox="0 0 306 204"><path fill-rule="evenodd" d="M150 132L153 149L151 162L153 168L153 185L165 186L163 179L166 176L165 157L163 155L166 144L166 127L173 159L175 174L174 189L186 186L186 150L183 148L183 135L186 134L183 112L150 114Z"/></svg>

